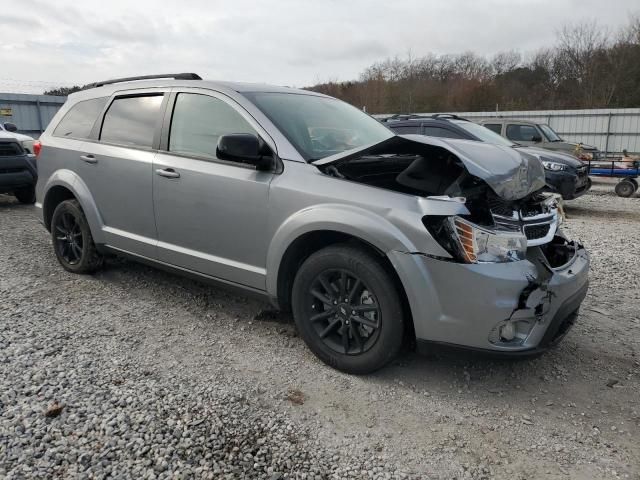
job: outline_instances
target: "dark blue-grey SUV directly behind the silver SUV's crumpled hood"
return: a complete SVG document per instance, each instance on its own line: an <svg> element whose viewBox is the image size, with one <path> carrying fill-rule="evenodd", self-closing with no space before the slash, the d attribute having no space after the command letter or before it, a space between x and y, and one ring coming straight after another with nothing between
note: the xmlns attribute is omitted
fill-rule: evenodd
<svg viewBox="0 0 640 480"><path fill-rule="evenodd" d="M401 135L416 134L430 137L474 140L494 145L517 148L538 158L545 169L549 190L572 200L591 188L587 167L577 158L560 152L552 152L536 147L527 147L514 143L488 128L465 118L450 114L394 115L382 119L391 130Z"/></svg>

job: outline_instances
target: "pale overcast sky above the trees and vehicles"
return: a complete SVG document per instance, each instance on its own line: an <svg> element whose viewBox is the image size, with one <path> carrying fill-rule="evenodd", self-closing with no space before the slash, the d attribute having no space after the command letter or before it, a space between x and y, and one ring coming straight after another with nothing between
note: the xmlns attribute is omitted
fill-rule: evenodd
<svg viewBox="0 0 640 480"><path fill-rule="evenodd" d="M3 0L0 91L196 72L308 86L393 55L523 53L567 23L615 30L637 0Z"/></svg>

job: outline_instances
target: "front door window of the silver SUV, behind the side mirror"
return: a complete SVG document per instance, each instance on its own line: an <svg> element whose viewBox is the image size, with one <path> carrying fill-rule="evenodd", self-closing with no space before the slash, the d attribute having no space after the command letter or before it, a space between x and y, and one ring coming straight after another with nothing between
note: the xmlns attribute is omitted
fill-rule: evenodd
<svg viewBox="0 0 640 480"><path fill-rule="evenodd" d="M256 131L231 106L214 97L181 93L171 118L169 150L216 158L221 135Z"/></svg>

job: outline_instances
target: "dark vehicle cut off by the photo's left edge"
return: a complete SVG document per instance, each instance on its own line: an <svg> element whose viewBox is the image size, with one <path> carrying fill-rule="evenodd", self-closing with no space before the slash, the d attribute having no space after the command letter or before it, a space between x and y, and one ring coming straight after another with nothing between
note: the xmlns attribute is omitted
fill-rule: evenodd
<svg viewBox="0 0 640 480"><path fill-rule="evenodd" d="M20 203L33 203L37 179L36 157L18 140L0 136L0 193L11 193Z"/></svg>

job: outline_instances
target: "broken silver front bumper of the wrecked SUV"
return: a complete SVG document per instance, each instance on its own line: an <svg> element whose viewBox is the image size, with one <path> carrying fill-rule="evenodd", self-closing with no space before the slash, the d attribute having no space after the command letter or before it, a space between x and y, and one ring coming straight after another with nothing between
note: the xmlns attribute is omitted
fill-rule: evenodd
<svg viewBox="0 0 640 480"><path fill-rule="evenodd" d="M403 252L389 258L405 287L419 343L536 353L564 336L588 288L589 256L582 247L551 271L529 260L470 265ZM514 319L528 332L516 342L501 341L499 328Z"/></svg>

